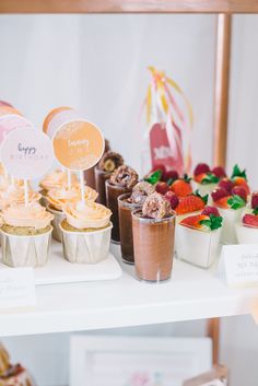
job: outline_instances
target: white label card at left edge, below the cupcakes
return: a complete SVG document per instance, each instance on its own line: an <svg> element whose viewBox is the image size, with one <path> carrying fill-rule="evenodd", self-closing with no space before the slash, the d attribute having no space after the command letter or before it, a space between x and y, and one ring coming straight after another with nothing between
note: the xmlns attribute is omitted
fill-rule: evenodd
<svg viewBox="0 0 258 386"><path fill-rule="evenodd" d="M0 269L0 312L36 305L33 268Z"/></svg>

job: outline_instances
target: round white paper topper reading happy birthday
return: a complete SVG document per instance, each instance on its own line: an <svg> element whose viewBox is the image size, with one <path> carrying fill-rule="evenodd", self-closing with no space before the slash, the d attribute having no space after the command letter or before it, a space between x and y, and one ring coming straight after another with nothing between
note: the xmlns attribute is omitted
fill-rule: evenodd
<svg viewBox="0 0 258 386"><path fill-rule="evenodd" d="M40 177L54 161L51 140L37 129L15 129L2 142L1 161L12 177Z"/></svg>

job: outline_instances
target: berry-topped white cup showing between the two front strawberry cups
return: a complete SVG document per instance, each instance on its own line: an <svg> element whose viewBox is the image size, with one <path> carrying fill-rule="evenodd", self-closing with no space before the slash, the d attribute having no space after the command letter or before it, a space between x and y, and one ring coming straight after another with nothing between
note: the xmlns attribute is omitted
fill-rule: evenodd
<svg viewBox="0 0 258 386"><path fill-rule="evenodd" d="M225 188L218 187L212 191L211 197L213 206L219 208L224 219L222 243L235 244L237 242L235 223L239 222L243 210L246 207L246 190L242 186L234 186L230 192Z"/></svg>

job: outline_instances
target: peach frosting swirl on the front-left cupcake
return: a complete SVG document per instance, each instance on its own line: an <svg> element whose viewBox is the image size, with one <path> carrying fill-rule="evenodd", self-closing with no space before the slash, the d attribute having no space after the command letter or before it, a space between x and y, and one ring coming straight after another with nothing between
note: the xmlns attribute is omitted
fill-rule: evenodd
<svg viewBox="0 0 258 386"><path fill-rule="evenodd" d="M30 226L42 230L54 220L54 215L46 211L38 202L13 203L2 211L3 223L11 226Z"/></svg>

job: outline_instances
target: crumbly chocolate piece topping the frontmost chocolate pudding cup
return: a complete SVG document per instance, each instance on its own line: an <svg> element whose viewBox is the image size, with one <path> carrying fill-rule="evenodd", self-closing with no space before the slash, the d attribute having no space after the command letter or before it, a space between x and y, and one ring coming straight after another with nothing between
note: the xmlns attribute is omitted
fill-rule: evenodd
<svg viewBox="0 0 258 386"><path fill-rule="evenodd" d="M172 214L171 203L155 191L145 199L142 214L150 219L164 219Z"/></svg>

